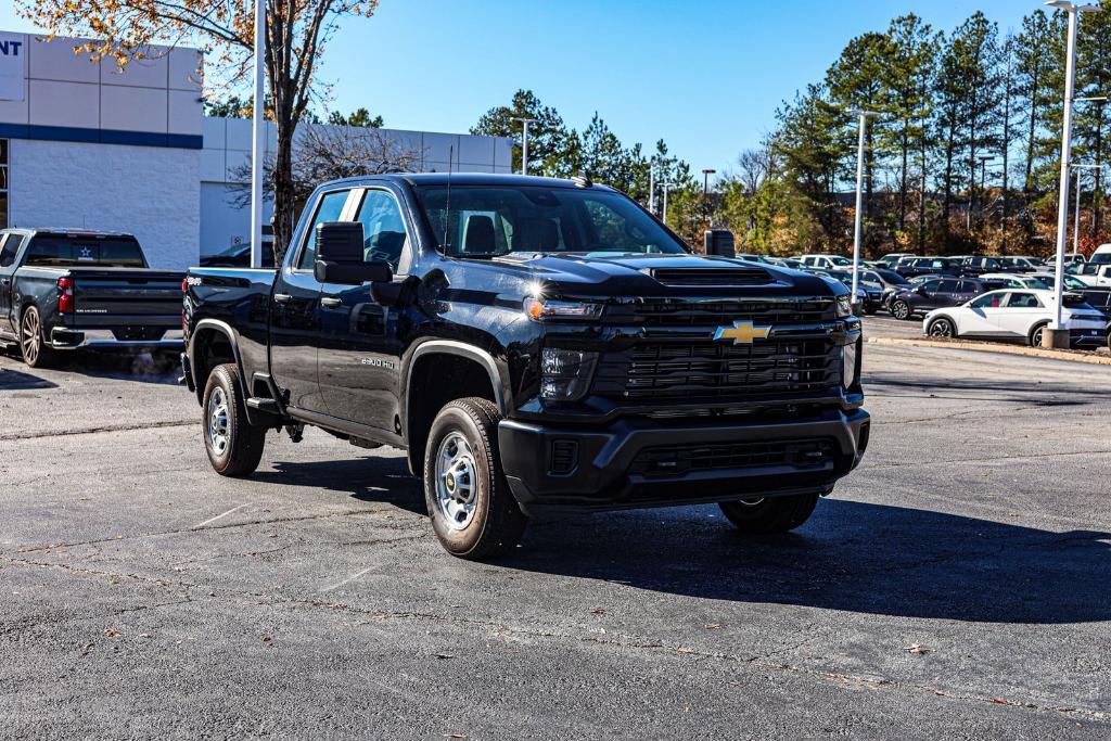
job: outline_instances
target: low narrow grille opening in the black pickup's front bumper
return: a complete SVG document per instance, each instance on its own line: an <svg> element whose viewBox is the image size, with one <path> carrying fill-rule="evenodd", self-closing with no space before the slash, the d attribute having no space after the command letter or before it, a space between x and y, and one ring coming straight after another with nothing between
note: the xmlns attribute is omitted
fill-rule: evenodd
<svg viewBox="0 0 1111 741"><path fill-rule="evenodd" d="M833 452L833 441L823 438L649 448L637 454L630 472L651 477L770 465L817 468L831 462Z"/></svg>

